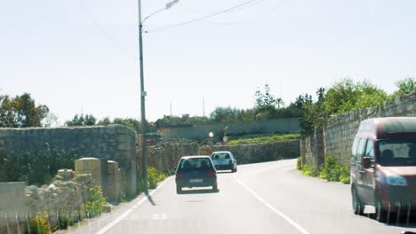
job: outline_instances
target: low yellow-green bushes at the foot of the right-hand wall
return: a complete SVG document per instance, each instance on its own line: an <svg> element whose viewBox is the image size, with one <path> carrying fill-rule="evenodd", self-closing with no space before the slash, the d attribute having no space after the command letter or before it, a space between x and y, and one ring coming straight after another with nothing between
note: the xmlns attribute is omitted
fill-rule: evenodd
<svg viewBox="0 0 416 234"><path fill-rule="evenodd" d="M349 184L349 168L342 166L334 157L327 157L324 164L319 169L309 165L302 165L301 158L298 157L296 169L300 170L302 175L319 177L329 182L340 182Z"/></svg>

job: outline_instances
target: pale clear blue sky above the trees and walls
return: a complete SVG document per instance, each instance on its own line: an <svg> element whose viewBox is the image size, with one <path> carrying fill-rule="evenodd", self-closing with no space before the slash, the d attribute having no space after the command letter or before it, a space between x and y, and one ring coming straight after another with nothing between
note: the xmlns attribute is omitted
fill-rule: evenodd
<svg viewBox="0 0 416 234"><path fill-rule="evenodd" d="M393 92L416 77L416 1L180 0L145 22L148 119L249 108L266 82L289 104L349 77ZM143 0L143 16L169 1ZM76 113L140 118L134 0L0 3L0 92L30 93L60 122Z"/></svg>

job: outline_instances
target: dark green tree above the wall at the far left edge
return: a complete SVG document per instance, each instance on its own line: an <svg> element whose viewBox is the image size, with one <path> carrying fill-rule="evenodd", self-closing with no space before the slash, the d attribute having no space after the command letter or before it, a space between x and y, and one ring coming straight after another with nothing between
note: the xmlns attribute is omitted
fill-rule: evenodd
<svg viewBox="0 0 416 234"><path fill-rule="evenodd" d="M36 105L28 93L15 98L0 96L0 128L42 127L48 113L48 106Z"/></svg>

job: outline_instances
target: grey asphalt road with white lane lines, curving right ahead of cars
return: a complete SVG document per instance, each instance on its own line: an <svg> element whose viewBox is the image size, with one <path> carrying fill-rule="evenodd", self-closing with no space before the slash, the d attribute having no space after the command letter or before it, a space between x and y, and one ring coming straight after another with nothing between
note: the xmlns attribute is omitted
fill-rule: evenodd
<svg viewBox="0 0 416 234"><path fill-rule="evenodd" d="M170 177L151 202L138 198L100 221L71 233L400 233L396 221L383 224L352 213L349 185L305 177L296 160L241 165L219 174L219 192L185 191L177 195ZM370 210L371 209L367 209Z"/></svg>

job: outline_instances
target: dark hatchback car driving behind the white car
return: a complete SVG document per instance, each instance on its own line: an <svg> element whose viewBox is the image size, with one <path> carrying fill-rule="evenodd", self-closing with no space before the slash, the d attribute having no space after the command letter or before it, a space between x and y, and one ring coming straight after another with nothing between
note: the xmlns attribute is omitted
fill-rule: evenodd
<svg viewBox="0 0 416 234"><path fill-rule="evenodd" d="M211 187L218 191L217 170L209 156L182 157L176 168L176 192L182 188Z"/></svg>

